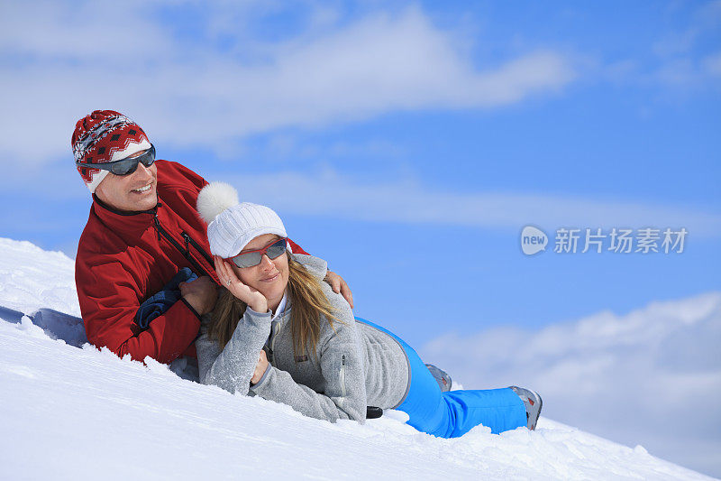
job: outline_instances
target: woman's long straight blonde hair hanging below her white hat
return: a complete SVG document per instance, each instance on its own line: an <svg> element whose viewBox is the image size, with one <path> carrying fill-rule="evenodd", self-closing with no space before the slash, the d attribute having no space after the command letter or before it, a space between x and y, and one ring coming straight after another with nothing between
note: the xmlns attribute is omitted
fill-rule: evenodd
<svg viewBox="0 0 721 481"><path fill-rule="evenodd" d="M288 280L287 291L291 302L290 332L293 337L293 355L302 356L306 348L315 356L315 348L321 334L321 315L328 319L333 328L333 320L341 322L334 314L333 307L325 297L320 281L306 268L287 255ZM218 341L223 349L233 337L238 322L245 313L247 304L223 289L213 310L213 320L208 328L208 337Z"/></svg>

